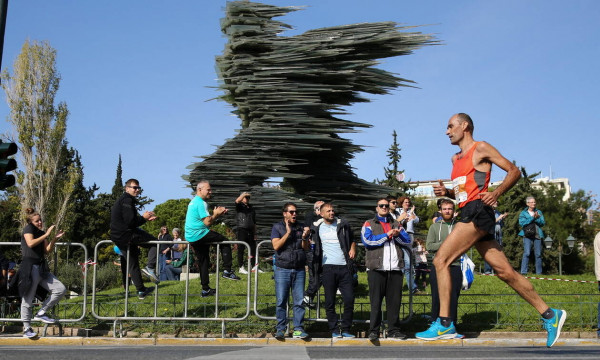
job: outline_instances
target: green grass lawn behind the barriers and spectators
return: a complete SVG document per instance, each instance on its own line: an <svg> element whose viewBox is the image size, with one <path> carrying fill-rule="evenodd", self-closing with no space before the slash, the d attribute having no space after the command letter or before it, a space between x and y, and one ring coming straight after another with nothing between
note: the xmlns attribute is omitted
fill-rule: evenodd
<svg viewBox="0 0 600 360"><path fill-rule="evenodd" d="M262 317L275 316L275 289L271 272L259 274L256 311ZM135 288L130 289L127 316L156 317L158 320L132 319L123 321L124 327L140 332L175 334L189 336L193 333L221 333L220 318L239 321L226 323L227 333L263 334L273 331L275 320L262 319L254 312L254 275L251 279L251 296L247 304L247 276L240 275L242 281L219 279L219 305L215 307L215 297L202 298L198 279L190 280L187 317L213 319L209 321L183 321L173 318L184 316L185 282L164 281L158 286L157 297L150 295L139 300ZM557 276L543 276L557 278ZM562 276L563 279L594 281L590 275ZM568 318L565 331L591 331L597 323L597 306L600 301L598 286L595 283L577 283L550 280L530 280L542 298L551 306L566 309ZM150 285L148 283L147 285ZM215 275L211 274L211 287L215 287ZM369 298L366 273L359 274L356 289L354 318L358 323L355 330L367 330L364 321L369 318ZM158 299L155 306L155 299ZM321 302L324 300L321 295ZM122 288L96 294L95 312L100 317L115 318L125 315L124 291ZM403 306L400 317L405 322L404 330L414 333L427 328L426 315L430 311L429 289L412 297L403 289ZM111 328L113 321L98 320L91 315L91 294L88 296L87 315L75 326L98 329ZM338 313L341 313L341 300L338 299ZM411 313L412 308L412 313ZM248 310L249 309L249 310ZM82 313L81 297L61 301L57 315L63 319L74 319ZM249 316L246 317L249 311ZM307 318L325 319L325 311L309 310ZM16 316L18 317L18 312ZM537 312L502 281L493 276L476 276L473 286L463 291L459 300L459 332L480 331L541 331L541 321ZM326 323L309 320L306 330L309 333L327 333Z"/></svg>

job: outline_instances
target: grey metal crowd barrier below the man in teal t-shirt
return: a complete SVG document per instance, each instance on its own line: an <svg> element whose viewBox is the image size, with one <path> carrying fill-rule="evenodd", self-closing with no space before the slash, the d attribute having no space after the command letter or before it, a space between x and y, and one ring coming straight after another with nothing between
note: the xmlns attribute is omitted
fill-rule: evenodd
<svg viewBox="0 0 600 360"><path fill-rule="evenodd" d="M181 244L181 243L186 243L188 244L188 249L190 247L190 243L187 241L149 241L147 242L147 244L152 244L152 245L156 245L157 247L157 251L156 251L156 256L157 256L157 268L156 268L156 275L159 276L160 274L160 268L159 266L159 255L160 255L160 244ZM96 262L98 260L98 251L99 248L102 245L105 244L113 244L113 242L111 240L102 240L100 242L98 242L96 244L96 247L94 248L94 262ZM246 246L248 253L250 253L250 246L245 243L245 242L241 242L241 241L223 241L223 242L219 242L219 243L206 243L206 245L216 245L217 247L217 259L216 259L216 274L217 276L215 276L216 278L216 284L215 284L215 289L216 289L216 294L214 296L215 299L215 311L214 311L214 316L213 317L193 317L193 316L189 316L188 314L188 309L189 309L189 282L190 282L190 261L189 261L189 253L192 250L188 250L188 257L186 259L186 264L187 264L187 269L188 271L186 272L185 275L185 293L183 294L184 297L184 302L183 302L183 314L182 316L159 316L158 314L158 305L159 305L159 284L156 285L155 291L154 291L154 310L153 310L153 315L152 316L131 316L129 313L129 266L127 266L127 272L125 274L125 279L126 279L126 285L125 285L125 302L124 302L124 310L123 310L123 315L115 315L115 316L102 316L100 314L97 313L96 308L99 305L97 302L97 296L96 296L96 268L94 268L94 272L93 272L93 278L92 278L92 284L93 284L93 288L92 288L92 316L95 317L98 320L112 320L113 321L113 332L116 336L116 329L118 325L121 325L122 321L127 321L127 320L144 320L144 321L158 321L158 320L168 320L168 321L220 321L221 322L221 334L224 337L225 336L225 322L227 321L243 321L245 320L249 314L250 314L250 279L251 276L248 276L248 280L247 280L247 285L246 285L246 313L241 316L241 317L223 317L223 316L219 316L219 279L220 279L220 269L219 269L219 259L220 259L220 250L221 250L221 245L224 244L229 244L229 245L233 245L233 244L237 244L238 246L244 245ZM130 255L130 251L127 251L127 263L129 263L129 255ZM232 257L233 257L233 253L232 253ZM250 266L250 258L248 258L248 269L251 269ZM182 273L183 276L183 273ZM120 334L122 335L122 334Z"/></svg>

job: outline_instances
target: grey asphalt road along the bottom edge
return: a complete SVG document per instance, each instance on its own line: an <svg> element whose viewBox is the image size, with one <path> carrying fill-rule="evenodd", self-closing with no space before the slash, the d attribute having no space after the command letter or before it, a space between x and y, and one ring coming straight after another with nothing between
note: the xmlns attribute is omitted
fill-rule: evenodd
<svg viewBox="0 0 600 360"><path fill-rule="evenodd" d="M306 359L599 359L598 346L2 346L0 359L43 360L306 360Z"/></svg>

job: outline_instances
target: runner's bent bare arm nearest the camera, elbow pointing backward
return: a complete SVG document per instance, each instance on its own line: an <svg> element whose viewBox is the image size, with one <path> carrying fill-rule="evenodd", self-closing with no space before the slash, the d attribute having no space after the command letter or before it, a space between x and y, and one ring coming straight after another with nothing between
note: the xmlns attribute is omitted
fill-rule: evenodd
<svg viewBox="0 0 600 360"><path fill-rule="evenodd" d="M521 177L521 171L519 171L519 168L517 168L515 164L502 156L502 154L500 154L495 147L486 143L485 141L482 141L479 146L477 146L473 157L473 162L477 164L475 165L476 169L478 168L478 165L489 162L506 171L506 176L504 177L502 184L500 184L494 191L479 194L481 201L483 201L486 205L492 206L498 201L500 195L507 192L517 183ZM491 168L489 170L491 170Z"/></svg>

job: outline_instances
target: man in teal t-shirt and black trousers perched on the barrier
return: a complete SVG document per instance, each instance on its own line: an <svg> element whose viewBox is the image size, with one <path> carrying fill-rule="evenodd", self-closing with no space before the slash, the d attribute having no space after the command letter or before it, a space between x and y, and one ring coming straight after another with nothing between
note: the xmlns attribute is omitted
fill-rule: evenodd
<svg viewBox="0 0 600 360"><path fill-rule="evenodd" d="M208 267L209 267L209 243L228 241L228 239L209 227L222 215L227 213L227 208L216 206L213 214L208 211L206 200L212 196L212 189L206 180L201 180L196 185L196 196L188 205L185 216L185 239L190 242L194 253L198 258L200 266L200 283L202 284L202 296L215 294L215 290L209 286ZM229 244L221 245L221 255L223 257L223 277L229 280L239 280L240 278L231 271L231 246Z"/></svg>

